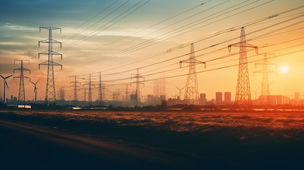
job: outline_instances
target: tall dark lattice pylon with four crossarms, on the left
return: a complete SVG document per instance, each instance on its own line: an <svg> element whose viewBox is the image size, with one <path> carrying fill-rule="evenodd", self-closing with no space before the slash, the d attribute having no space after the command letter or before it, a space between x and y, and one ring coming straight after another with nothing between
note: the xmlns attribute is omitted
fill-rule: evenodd
<svg viewBox="0 0 304 170"><path fill-rule="evenodd" d="M40 47L40 43L49 43L49 50L41 52L41 53L38 54L38 59L40 58L40 54L49 55L49 60L47 62L39 63L39 69L40 69L40 65L47 65L48 66L47 88L46 88L45 99L44 99L44 104L45 104L45 106L48 107L49 102L54 102L56 104L55 78L54 78L53 66L54 65L60 65L61 70L62 70L62 65L61 64L53 62L53 55L60 55L61 60L62 60L62 54L59 54L59 53L53 51L53 49L52 49L52 44L53 43L59 43L60 47L61 47L61 42L52 39L51 31L60 29L60 33L61 33L61 28L40 27L39 31L41 31L41 29L49 30L49 39L42 40L42 41L38 42L39 47Z"/></svg>

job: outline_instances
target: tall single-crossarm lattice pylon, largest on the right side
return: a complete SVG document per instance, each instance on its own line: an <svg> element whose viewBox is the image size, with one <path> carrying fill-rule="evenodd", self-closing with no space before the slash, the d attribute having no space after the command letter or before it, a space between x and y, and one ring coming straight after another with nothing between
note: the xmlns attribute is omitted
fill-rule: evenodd
<svg viewBox="0 0 304 170"><path fill-rule="evenodd" d="M230 52L231 46L239 46L239 65L236 84L236 100L235 105L239 105L244 108L252 106L250 83L248 74L248 62L247 62L247 47L255 48L257 53L257 46L246 43L245 29L241 28L240 42L228 46Z"/></svg>

